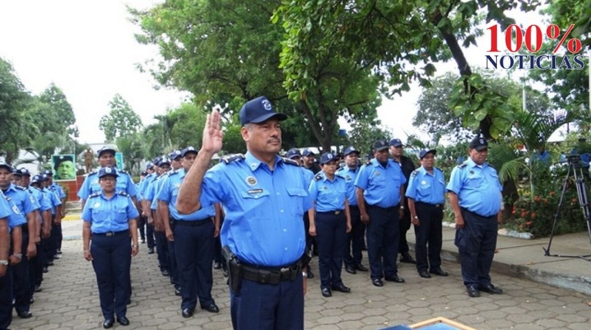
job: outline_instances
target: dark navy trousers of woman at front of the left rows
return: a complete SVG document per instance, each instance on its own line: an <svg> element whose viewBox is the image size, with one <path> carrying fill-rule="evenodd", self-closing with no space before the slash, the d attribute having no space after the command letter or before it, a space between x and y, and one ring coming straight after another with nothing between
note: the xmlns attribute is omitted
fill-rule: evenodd
<svg viewBox="0 0 591 330"><path fill-rule="evenodd" d="M115 236L93 234L90 253L96 274L100 309L105 319L125 316L130 287L131 241L129 232Z"/></svg>

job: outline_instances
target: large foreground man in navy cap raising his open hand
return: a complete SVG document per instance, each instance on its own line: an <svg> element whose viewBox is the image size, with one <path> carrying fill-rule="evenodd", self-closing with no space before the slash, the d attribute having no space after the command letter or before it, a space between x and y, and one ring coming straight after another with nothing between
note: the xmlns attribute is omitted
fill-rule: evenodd
<svg viewBox="0 0 591 330"><path fill-rule="evenodd" d="M280 121L265 96L239 113L246 155L210 159L222 148L220 114L208 115L203 143L179 190L177 209L190 214L221 202L221 241L230 266L230 314L234 329L304 329L306 278L302 217L311 199L297 162L277 155ZM207 171L207 173L205 173Z"/></svg>

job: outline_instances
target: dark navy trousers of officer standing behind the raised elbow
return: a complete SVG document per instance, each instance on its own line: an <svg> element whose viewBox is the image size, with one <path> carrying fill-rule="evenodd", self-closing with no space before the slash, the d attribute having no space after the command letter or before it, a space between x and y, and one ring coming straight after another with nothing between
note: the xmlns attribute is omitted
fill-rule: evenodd
<svg viewBox="0 0 591 330"><path fill-rule="evenodd" d="M175 250L181 284L181 309L197 307L198 297L201 306L214 303L214 223L210 219L175 221Z"/></svg>

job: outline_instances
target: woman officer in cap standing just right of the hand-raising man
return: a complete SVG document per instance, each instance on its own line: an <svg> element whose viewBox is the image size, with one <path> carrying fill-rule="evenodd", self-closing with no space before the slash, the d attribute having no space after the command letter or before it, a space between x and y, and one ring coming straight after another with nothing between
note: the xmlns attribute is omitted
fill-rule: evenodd
<svg viewBox="0 0 591 330"><path fill-rule="evenodd" d="M337 162L332 153L320 158L322 171L310 183L309 193L315 206L310 209L310 234L318 244L318 270L322 296L332 296L331 290L344 293L351 289L343 284L341 269L351 230L346 181L335 175ZM315 211L315 212L314 212Z"/></svg>

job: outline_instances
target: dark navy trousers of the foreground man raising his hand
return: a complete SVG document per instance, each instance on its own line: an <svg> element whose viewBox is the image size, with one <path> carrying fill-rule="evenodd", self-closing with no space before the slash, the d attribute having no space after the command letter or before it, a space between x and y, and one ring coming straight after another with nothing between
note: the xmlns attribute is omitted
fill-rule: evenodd
<svg viewBox="0 0 591 330"><path fill-rule="evenodd" d="M260 284L242 280L238 294L230 289L230 315L234 330L303 330L302 273L293 281Z"/></svg>

